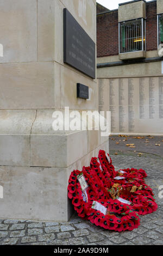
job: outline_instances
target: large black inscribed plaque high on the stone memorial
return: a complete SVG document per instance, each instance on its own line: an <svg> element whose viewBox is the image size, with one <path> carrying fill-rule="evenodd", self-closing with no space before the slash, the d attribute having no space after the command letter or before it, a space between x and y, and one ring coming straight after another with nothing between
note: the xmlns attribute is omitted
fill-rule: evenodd
<svg viewBox="0 0 163 256"><path fill-rule="evenodd" d="M95 42L64 9L64 63L95 79Z"/></svg>

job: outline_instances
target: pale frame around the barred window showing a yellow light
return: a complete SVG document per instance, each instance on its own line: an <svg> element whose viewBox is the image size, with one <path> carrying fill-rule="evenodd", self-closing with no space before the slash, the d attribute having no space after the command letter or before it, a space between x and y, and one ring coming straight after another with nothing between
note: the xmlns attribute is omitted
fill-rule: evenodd
<svg viewBox="0 0 163 256"><path fill-rule="evenodd" d="M129 52L121 52L121 50L120 50L120 48L121 48L121 45L120 45L120 25L121 25L122 22L136 21L136 20L141 20L142 50L139 50L139 51L129 51ZM146 51L146 19L145 18L138 18L138 19L133 19L133 20L128 20L128 21L118 22L118 48L119 48L119 54L132 53L132 52L135 53L135 52ZM145 43L144 43L144 40L143 40L144 37L145 37Z"/></svg>

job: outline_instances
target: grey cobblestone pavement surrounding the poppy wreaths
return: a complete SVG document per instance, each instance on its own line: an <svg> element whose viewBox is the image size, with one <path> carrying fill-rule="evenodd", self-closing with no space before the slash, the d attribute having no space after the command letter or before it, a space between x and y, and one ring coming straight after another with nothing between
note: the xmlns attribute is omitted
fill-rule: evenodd
<svg viewBox="0 0 163 256"><path fill-rule="evenodd" d="M163 245L163 199L158 188L163 185L163 160L154 155L111 155L116 169L143 168L146 182L153 188L158 210L140 217L140 226L133 231L105 230L81 220L76 214L69 222L31 222L0 220L1 245Z"/></svg>

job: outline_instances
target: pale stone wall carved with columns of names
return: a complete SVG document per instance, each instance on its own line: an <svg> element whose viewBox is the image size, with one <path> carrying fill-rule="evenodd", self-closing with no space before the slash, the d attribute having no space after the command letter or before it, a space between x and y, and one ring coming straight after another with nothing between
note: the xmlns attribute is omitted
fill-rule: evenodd
<svg viewBox="0 0 163 256"><path fill-rule="evenodd" d="M111 133L163 133L163 77L100 78L99 111L111 111Z"/></svg>

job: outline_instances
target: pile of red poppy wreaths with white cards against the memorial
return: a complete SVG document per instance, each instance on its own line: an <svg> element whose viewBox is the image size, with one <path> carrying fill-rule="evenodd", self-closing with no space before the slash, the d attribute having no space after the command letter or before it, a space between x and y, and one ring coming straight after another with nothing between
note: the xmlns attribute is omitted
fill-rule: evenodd
<svg viewBox="0 0 163 256"><path fill-rule="evenodd" d="M73 170L68 198L78 216L105 229L124 231L139 227L139 215L156 211L152 189L145 184L142 169L116 171L109 154L100 150L90 167Z"/></svg>

